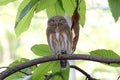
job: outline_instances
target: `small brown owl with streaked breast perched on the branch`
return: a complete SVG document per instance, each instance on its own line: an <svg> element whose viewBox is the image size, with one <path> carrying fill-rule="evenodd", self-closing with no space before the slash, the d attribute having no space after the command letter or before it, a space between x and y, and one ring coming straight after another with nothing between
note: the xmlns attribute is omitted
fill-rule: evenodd
<svg viewBox="0 0 120 80"><path fill-rule="evenodd" d="M47 23L46 35L54 55L72 54L72 32L64 17L51 17ZM60 66L66 69L67 60L60 60Z"/></svg>

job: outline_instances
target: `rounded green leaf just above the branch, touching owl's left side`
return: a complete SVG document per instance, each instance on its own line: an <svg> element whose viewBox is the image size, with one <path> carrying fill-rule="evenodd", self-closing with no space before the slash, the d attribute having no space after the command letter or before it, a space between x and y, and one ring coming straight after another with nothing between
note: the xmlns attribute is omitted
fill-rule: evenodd
<svg viewBox="0 0 120 80"><path fill-rule="evenodd" d="M31 50L38 56L50 56L51 51L48 45L39 44L32 46Z"/></svg>

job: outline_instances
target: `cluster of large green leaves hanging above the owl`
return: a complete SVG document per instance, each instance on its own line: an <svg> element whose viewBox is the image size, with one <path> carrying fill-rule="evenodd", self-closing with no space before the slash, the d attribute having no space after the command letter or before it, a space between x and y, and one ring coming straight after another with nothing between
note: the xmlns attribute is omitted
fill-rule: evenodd
<svg viewBox="0 0 120 80"><path fill-rule="evenodd" d="M16 18L15 32L17 36L29 28L34 12L40 12L41 10L46 9L48 17L54 15L64 16L65 13L72 16L76 5L75 3L76 0L23 0L19 6ZM86 12L84 0L80 2L78 12L81 14L80 24L84 26Z"/></svg>

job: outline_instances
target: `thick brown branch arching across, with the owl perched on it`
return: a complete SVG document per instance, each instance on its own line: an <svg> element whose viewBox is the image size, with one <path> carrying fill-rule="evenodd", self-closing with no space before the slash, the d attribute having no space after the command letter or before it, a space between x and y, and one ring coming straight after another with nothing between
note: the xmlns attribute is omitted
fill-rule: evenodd
<svg viewBox="0 0 120 80"><path fill-rule="evenodd" d="M56 55L52 55L52 56L47 56L47 57L30 60L30 61L24 62L22 64L16 65L14 67L8 68L7 70L0 73L0 80L5 79L9 75L11 75L21 69L24 69L24 68L27 68L27 67L30 67L30 66L33 66L36 64L44 63L44 62L63 60L63 59L89 60L89 61L102 62L102 63L107 63L107 64L110 64L110 63L120 64L120 58L105 58L105 57L98 57L98 56L92 56L92 55L87 55L87 54L71 54L71 55L66 54L64 56L60 56L59 58L57 58Z"/></svg>

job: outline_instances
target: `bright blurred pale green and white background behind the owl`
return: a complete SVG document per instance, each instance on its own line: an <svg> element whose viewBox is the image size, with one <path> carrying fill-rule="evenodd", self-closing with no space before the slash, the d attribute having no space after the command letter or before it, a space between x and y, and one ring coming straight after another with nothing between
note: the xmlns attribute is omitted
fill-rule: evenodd
<svg viewBox="0 0 120 80"><path fill-rule="evenodd" d="M0 67L8 66L20 58L34 59L31 47L47 44L47 15L45 10L34 15L30 28L20 37L14 32L15 17L21 1L0 6ZM115 22L107 0L86 0L86 23L80 29L80 38L75 53L89 54L95 49L111 49L120 55L120 19ZM120 68L92 61L76 61L76 64L101 80L117 80ZM77 80L85 79L76 71Z"/></svg>

